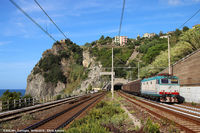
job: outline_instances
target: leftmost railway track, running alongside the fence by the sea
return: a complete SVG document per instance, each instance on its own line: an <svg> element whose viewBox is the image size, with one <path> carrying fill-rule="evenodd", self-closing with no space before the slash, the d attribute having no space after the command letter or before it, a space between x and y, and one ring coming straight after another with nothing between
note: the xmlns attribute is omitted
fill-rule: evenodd
<svg viewBox="0 0 200 133"><path fill-rule="evenodd" d="M90 95L90 94L88 94L88 95ZM83 98L88 95L75 96L75 97L65 98L65 99L61 99L61 100L57 100L57 101L53 101L53 102L38 104L38 105L34 105L34 106L22 108L22 109L1 112L0 113L0 123L6 122L9 120L13 120L13 119L17 119L17 118L23 116L24 114L32 114L32 113L35 113L38 111L47 110L47 109L50 109L50 108L53 108L56 106L60 106L62 104L73 102L74 100Z"/></svg>

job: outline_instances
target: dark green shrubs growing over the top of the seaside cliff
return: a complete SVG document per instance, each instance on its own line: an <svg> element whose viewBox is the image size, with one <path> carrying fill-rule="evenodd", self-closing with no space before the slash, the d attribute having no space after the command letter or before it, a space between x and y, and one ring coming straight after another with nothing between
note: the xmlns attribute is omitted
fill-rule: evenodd
<svg viewBox="0 0 200 133"><path fill-rule="evenodd" d="M84 70L82 66L83 49L73 43L70 39L66 39L65 43L66 45L60 44L59 42L54 43L54 45L62 45L60 46L60 50L56 55L52 54L51 52L47 52L44 58L39 61L38 65L34 67L33 74L41 73L45 78L45 82L51 82L54 85L56 85L58 81L67 83L67 81L70 81L70 79L67 79L67 77L63 74L64 72L62 71L61 65L61 60L65 58L69 59L69 64L71 63L69 67L71 66L72 72L77 71L77 67L73 68L73 64L76 64L76 66L79 65L78 67L80 70L77 72L78 74L72 74L73 81L79 78L78 76L80 75L80 78L86 78L87 75L83 74ZM70 57L73 57L73 59Z"/></svg>

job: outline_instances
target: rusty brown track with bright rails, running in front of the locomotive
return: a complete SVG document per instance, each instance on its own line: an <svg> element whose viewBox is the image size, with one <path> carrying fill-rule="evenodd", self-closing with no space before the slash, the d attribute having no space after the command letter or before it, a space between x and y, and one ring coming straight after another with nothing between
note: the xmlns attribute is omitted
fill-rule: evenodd
<svg viewBox="0 0 200 133"><path fill-rule="evenodd" d="M158 118L168 119L175 122L180 128L189 133L200 133L200 112L196 108L186 108L170 104L157 103L130 94L118 92L127 101L144 108Z"/></svg>

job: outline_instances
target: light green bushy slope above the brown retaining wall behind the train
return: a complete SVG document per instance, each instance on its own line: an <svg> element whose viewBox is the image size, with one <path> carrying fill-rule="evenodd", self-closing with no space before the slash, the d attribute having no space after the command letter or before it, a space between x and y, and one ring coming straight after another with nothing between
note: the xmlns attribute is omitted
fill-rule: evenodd
<svg viewBox="0 0 200 133"><path fill-rule="evenodd" d="M200 27L182 31L178 42L171 47L171 64L200 48ZM168 50L162 51L151 64L140 71L142 77L155 75L168 66Z"/></svg>

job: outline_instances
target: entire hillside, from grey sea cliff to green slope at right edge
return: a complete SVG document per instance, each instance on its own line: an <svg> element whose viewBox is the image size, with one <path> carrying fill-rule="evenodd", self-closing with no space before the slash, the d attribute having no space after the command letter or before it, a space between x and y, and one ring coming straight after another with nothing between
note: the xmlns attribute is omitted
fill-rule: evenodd
<svg viewBox="0 0 200 133"><path fill-rule="evenodd" d="M137 79L138 62L141 78L153 76L167 67L167 39L170 35L171 63L200 48L200 27L184 27L169 34L160 32L152 38L128 39L126 46L114 45L114 71L116 78ZM57 94L85 93L91 87L102 87L110 76L113 38L101 36L99 40L80 47L69 39L56 42L46 50L27 79L26 94L34 97ZM129 67L129 68L128 68Z"/></svg>

